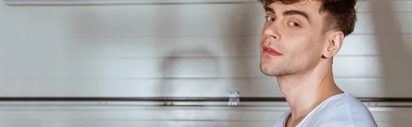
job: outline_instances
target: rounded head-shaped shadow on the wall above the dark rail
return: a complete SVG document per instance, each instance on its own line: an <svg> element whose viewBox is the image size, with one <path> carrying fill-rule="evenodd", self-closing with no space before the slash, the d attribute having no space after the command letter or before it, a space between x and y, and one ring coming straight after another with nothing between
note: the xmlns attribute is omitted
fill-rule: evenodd
<svg viewBox="0 0 412 127"><path fill-rule="evenodd" d="M162 79L159 85L159 96L210 96L210 90L216 84L206 80L216 77L219 74L220 64L214 55L201 47L179 48L165 54L161 62ZM182 56L194 57L182 57ZM207 57L197 57L207 56ZM212 79L213 80L213 79ZM206 85L210 85L207 89ZM210 93L214 93L210 91Z"/></svg>

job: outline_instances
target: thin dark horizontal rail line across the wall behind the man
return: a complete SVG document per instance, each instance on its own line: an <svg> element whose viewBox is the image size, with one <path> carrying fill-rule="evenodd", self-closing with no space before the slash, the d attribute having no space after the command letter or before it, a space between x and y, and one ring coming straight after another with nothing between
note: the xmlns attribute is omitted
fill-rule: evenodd
<svg viewBox="0 0 412 127"><path fill-rule="evenodd" d="M227 97L1 97L3 102L84 102L84 101L148 101L148 102L228 102ZM285 98L241 97L240 102L286 102ZM412 102L412 98L358 98L361 102Z"/></svg>

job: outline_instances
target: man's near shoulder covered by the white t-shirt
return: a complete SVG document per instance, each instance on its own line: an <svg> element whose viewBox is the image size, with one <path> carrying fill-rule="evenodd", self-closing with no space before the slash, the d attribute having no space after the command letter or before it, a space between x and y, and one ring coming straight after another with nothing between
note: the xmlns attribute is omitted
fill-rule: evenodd
<svg viewBox="0 0 412 127"><path fill-rule="evenodd" d="M365 104L347 93L327 100L312 119L318 126L376 126Z"/></svg>

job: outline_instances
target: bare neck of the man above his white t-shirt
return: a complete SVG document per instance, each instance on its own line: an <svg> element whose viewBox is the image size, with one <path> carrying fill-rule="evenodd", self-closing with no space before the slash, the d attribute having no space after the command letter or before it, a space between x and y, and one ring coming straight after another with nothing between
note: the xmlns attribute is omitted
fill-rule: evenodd
<svg viewBox="0 0 412 127"><path fill-rule="evenodd" d="M324 100L343 91L333 80L332 66L330 68L314 68L305 74L278 76L277 82L290 105L288 123L296 126Z"/></svg>

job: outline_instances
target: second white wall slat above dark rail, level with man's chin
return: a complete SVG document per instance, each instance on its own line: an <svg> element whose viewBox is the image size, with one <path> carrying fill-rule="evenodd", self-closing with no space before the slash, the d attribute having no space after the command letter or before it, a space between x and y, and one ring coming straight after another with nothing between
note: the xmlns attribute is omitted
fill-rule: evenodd
<svg viewBox="0 0 412 127"><path fill-rule="evenodd" d="M380 60L405 61L404 57L336 57L336 77L382 77ZM393 70L404 66L391 62ZM4 59L5 79L102 78L231 78L266 77L260 57L166 57L142 59ZM391 75L391 77L409 77Z"/></svg>

